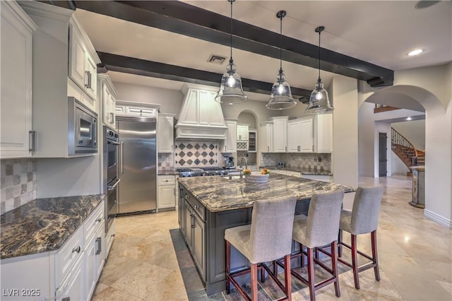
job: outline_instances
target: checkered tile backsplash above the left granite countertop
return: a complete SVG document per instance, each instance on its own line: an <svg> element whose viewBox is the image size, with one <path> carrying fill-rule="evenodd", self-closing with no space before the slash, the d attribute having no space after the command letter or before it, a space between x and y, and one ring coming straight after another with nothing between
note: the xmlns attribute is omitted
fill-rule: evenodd
<svg viewBox="0 0 452 301"><path fill-rule="evenodd" d="M36 199L36 160L0 160L1 214Z"/></svg>

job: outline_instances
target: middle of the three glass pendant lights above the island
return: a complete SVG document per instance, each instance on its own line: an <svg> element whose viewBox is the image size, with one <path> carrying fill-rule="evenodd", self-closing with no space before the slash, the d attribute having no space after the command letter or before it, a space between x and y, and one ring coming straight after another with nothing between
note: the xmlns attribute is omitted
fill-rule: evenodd
<svg viewBox="0 0 452 301"><path fill-rule="evenodd" d="M286 14L286 11L278 11L276 13L276 16L280 19L280 72L271 87L270 100L268 100L266 105L270 110L285 110L297 105L297 102L292 98L290 85L285 81L283 73L283 18Z"/></svg>

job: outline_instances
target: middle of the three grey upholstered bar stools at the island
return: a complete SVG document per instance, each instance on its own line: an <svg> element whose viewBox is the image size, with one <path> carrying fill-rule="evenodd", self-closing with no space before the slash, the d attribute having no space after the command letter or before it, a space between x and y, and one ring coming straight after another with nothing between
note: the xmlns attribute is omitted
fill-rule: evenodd
<svg viewBox="0 0 452 301"><path fill-rule="evenodd" d="M309 203L308 216L295 216L292 239L299 242L300 253L292 255L292 258L301 256L302 262L304 262L303 246L307 247L308 279L303 278L294 270L292 270L292 276L309 286L311 300L316 300L316 290L331 283L334 283L335 295L340 297L336 240L338 239L340 208L343 198L343 190L314 194ZM327 244L331 245L331 268L314 257L314 249ZM315 284L314 262L331 273L332 277Z"/></svg>

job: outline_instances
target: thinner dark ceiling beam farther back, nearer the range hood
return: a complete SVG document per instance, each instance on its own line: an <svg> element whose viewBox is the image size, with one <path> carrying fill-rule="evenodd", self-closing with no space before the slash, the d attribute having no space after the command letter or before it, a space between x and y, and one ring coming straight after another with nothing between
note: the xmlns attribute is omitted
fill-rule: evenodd
<svg viewBox="0 0 452 301"><path fill-rule="evenodd" d="M157 61L146 61L133 57L124 57L118 54L97 52L102 64L110 71L138 74L156 78L165 78L172 81L182 81L186 83L198 83L211 85L220 88L222 74L196 70L181 66L159 63ZM246 92L262 93L270 95L273 83L255 81L249 78L242 78L243 90ZM311 90L291 87L292 95L296 98L309 98Z"/></svg>

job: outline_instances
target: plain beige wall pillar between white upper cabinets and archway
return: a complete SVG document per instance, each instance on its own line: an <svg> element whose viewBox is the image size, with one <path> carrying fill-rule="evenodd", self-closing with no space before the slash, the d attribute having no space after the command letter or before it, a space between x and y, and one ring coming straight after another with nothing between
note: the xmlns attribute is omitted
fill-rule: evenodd
<svg viewBox="0 0 452 301"><path fill-rule="evenodd" d="M358 93L357 80L335 76L329 87L333 100L333 182L358 184ZM353 194L345 194L343 207L351 209Z"/></svg>

